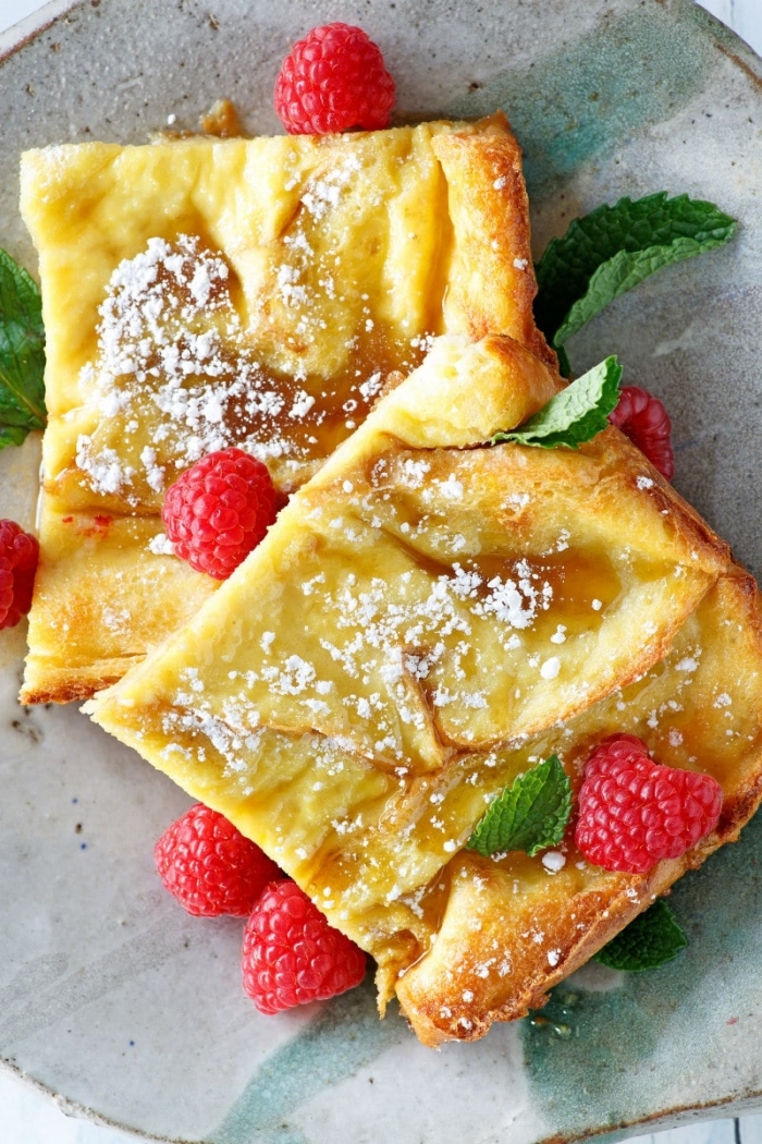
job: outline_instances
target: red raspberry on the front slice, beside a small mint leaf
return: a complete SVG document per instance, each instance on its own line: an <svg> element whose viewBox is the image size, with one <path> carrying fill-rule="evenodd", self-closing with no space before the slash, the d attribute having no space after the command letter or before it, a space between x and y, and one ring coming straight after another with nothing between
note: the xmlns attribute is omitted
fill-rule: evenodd
<svg viewBox="0 0 762 1144"><path fill-rule="evenodd" d="M713 831L721 807L712 776L655 763L641 739L615 734L585 768L575 842L595 866L644 874Z"/></svg>

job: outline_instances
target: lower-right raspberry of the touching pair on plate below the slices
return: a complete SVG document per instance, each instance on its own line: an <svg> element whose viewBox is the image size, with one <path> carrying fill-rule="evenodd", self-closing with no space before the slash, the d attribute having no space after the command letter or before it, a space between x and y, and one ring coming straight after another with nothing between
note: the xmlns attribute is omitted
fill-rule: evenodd
<svg viewBox="0 0 762 1144"><path fill-rule="evenodd" d="M272 1014L354 988L366 955L287 880L267 887L246 923L242 968L243 988Z"/></svg>

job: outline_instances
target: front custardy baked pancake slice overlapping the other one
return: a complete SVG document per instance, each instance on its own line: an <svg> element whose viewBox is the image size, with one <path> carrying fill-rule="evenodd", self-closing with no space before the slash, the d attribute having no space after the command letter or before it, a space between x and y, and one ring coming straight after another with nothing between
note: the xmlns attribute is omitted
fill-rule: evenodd
<svg viewBox="0 0 762 1144"><path fill-rule="evenodd" d="M560 387L439 339L198 615L86 709L219 810L376 959L427 1044L523 1016L762 792L756 588L609 428L489 445ZM556 753L640 736L714 774L716 831L647 875L464 849Z"/></svg>

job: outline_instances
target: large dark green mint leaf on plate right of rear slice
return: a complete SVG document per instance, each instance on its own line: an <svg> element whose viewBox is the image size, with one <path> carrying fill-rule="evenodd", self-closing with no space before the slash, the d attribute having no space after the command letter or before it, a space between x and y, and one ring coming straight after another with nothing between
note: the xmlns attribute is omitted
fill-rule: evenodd
<svg viewBox="0 0 762 1144"><path fill-rule="evenodd" d="M687 194L604 204L552 239L537 263L537 325L560 347L649 275L722 246L735 231L735 220L714 204Z"/></svg>

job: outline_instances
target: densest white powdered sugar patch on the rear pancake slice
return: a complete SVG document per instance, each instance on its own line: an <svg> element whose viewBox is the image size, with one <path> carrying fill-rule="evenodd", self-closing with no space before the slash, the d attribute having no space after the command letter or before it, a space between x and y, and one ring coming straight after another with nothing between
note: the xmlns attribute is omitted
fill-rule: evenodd
<svg viewBox="0 0 762 1144"><path fill-rule="evenodd" d="M233 443L265 459L298 458L294 442L272 430L281 414L302 419L313 398L260 370L230 286L226 261L187 235L152 238L114 270L97 359L82 382L95 384L104 422L120 418L123 446L80 436L77 466L94 491L137 503L141 485L161 493L178 471Z"/></svg>

